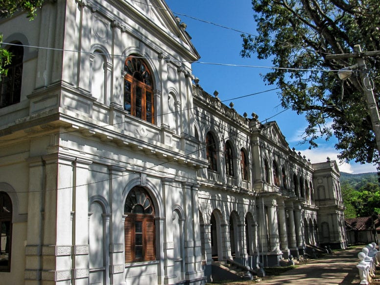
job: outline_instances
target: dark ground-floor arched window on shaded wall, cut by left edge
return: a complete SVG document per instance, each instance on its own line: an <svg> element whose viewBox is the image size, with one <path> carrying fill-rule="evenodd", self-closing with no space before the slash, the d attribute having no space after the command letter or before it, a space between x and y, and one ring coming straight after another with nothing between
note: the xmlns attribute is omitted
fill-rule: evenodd
<svg viewBox="0 0 380 285"><path fill-rule="evenodd" d="M12 201L0 192L0 271L10 272L12 249Z"/></svg>

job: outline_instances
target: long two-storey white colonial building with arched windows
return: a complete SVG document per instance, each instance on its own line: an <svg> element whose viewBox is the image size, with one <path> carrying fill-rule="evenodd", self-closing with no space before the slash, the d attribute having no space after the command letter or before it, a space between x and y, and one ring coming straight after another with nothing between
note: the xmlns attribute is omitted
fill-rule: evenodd
<svg viewBox="0 0 380 285"><path fill-rule="evenodd" d="M163 0L0 20L0 280L204 284L213 260L345 248L339 170L202 90Z"/></svg>

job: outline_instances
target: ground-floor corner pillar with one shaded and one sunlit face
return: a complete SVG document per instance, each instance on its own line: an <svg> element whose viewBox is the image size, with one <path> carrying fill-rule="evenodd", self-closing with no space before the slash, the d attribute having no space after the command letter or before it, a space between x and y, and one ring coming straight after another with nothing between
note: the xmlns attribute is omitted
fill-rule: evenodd
<svg viewBox="0 0 380 285"><path fill-rule="evenodd" d="M74 158L62 154L43 157L46 170L44 236L42 247L44 285L67 284L72 278L72 190Z"/></svg>

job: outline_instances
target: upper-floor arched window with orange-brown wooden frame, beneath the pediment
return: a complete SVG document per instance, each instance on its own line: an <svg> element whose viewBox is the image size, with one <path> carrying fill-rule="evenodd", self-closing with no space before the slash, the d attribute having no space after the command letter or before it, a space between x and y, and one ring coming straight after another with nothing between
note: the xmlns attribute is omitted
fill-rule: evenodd
<svg viewBox="0 0 380 285"><path fill-rule="evenodd" d="M153 80L146 64L130 56L124 64L124 110L154 123Z"/></svg>

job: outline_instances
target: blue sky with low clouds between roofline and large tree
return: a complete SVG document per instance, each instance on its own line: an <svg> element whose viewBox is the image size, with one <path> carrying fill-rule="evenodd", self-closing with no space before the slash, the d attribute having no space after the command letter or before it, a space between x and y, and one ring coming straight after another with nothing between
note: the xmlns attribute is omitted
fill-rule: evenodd
<svg viewBox="0 0 380 285"><path fill-rule="evenodd" d="M269 60L258 60L255 55L251 58L241 58L239 55L242 40L240 33L235 30L257 34L250 0L166 0L166 3L174 16L180 17L181 21L187 24L186 31L192 37L192 43L201 56L199 61L202 62L192 65L193 74L199 78L199 84L206 92L213 94L216 90L219 98L222 101L226 100L224 104L229 105L230 102L235 104L234 108L240 115L246 112L251 118L251 114L254 112L261 121L276 120L289 147L295 147L297 151L301 151L302 155L305 155L312 163L323 162L330 157L337 161L339 169L344 172L376 171L376 167L373 165L360 165L355 162L341 164L336 158L338 152L334 149L335 139L329 142L322 140L319 142L318 148L311 150L308 149L308 144L300 144L302 141L300 136L305 130L307 122L304 116L299 116L291 110L284 111L276 91L230 100L276 87L265 85L260 76L260 74L270 71L271 62ZM221 66L206 63L256 67ZM280 112L282 113L279 114Z"/></svg>

